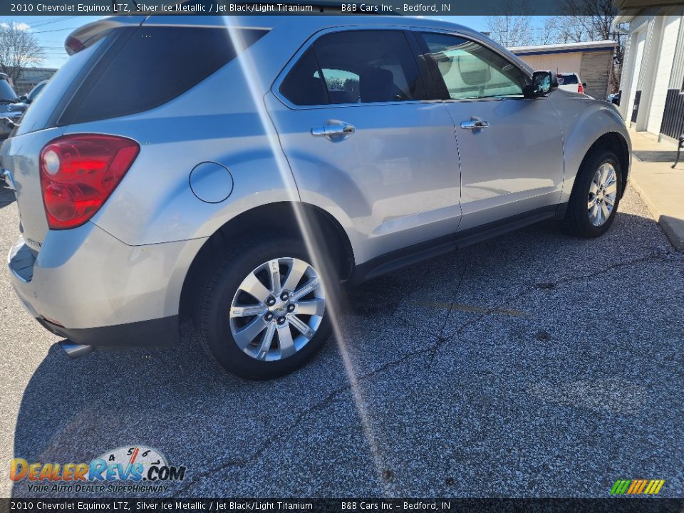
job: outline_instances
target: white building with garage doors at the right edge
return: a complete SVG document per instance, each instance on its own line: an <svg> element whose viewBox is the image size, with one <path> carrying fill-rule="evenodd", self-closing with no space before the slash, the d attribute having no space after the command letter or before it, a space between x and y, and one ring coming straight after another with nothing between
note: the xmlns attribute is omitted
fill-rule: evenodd
<svg viewBox="0 0 684 513"><path fill-rule="evenodd" d="M684 126L684 7L621 12L613 21L628 24L620 112L633 130L677 140Z"/></svg>

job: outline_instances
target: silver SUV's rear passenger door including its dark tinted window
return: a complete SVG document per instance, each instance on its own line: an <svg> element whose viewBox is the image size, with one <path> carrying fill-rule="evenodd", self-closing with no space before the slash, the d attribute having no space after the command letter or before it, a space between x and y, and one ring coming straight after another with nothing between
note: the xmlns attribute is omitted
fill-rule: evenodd
<svg viewBox="0 0 684 513"><path fill-rule="evenodd" d="M388 28L324 31L266 95L302 201L343 224L357 264L450 239L461 216L453 123L426 101L409 38Z"/></svg>

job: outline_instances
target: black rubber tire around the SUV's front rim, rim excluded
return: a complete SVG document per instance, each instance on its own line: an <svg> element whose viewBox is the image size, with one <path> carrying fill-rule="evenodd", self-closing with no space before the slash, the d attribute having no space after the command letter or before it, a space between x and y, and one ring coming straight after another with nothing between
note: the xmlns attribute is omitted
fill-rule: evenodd
<svg viewBox="0 0 684 513"><path fill-rule="evenodd" d="M594 226L589 219L589 212L587 209L589 187L591 187L591 182L594 180L596 170L604 163L612 165L615 170L617 193L615 205L613 206L613 210L608 216L608 219L600 226ZM620 166L620 160L618 160L615 153L606 148L596 148L596 150L592 150L586 155L584 162L582 162L582 165L579 168L577 177L575 178L572 194L570 195L570 200L568 202L568 208L563 219L563 225L566 232L585 239L601 237L601 235L606 233L608 228L611 227L611 224L613 224L613 221L615 220L621 196L622 167Z"/></svg>

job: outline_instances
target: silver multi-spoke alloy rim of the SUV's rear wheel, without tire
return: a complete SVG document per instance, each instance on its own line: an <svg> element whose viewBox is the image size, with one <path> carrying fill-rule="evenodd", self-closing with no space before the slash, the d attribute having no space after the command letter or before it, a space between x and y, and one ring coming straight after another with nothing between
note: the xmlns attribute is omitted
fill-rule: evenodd
<svg viewBox="0 0 684 513"><path fill-rule="evenodd" d="M282 360L314 337L325 311L316 270L304 260L273 259L242 280L231 304L230 331L252 358Z"/></svg>

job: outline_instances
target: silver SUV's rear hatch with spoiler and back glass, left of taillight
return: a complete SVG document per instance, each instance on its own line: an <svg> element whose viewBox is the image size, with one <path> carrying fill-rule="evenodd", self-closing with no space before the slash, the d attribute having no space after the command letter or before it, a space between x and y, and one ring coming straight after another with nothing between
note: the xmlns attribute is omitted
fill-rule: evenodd
<svg viewBox="0 0 684 513"><path fill-rule="evenodd" d="M66 40L71 54L26 111L18 128L4 141L0 166L9 170L19 207L19 229L31 249L38 252L48 231L38 157L45 145L66 130L60 123L63 111L89 71L113 43L119 28L140 25L143 16L114 17L78 28Z"/></svg>

